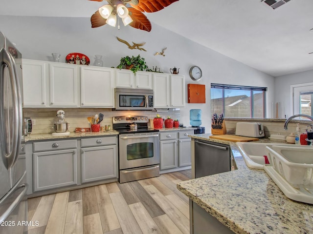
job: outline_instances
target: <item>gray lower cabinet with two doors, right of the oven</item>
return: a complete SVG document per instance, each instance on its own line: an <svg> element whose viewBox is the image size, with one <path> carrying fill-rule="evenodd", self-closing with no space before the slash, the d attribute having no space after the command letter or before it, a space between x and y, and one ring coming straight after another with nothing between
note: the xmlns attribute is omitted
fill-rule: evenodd
<svg viewBox="0 0 313 234"><path fill-rule="evenodd" d="M160 170L191 165L191 138L193 131L160 133Z"/></svg>

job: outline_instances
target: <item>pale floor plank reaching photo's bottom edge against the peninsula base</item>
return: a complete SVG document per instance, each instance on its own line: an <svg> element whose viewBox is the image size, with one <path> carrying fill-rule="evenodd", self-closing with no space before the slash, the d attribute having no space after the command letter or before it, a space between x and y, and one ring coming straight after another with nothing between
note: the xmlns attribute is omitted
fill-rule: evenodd
<svg viewBox="0 0 313 234"><path fill-rule="evenodd" d="M183 215L164 195L153 185L145 186L145 190L155 199L156 203L172 219L183 234L189 234L189 219Z"/></svg>

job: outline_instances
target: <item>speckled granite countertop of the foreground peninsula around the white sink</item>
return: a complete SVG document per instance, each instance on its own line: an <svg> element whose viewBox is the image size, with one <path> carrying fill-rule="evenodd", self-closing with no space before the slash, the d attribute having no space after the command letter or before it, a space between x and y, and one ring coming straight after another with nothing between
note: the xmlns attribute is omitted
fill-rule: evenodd
<svg viewBox="0 0 313 234"><path fill-rule="evenodd" d="M183 194L234 233L313 234L313 205L289 199L264 170L248 168L235 142L190 137L229 144L238 170L180 182Z"/></svg>

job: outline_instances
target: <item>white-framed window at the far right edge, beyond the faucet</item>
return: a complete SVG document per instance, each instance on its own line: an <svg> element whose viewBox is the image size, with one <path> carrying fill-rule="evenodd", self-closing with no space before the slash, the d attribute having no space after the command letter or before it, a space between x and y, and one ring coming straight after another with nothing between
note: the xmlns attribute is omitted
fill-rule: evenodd
<svg viewBox="0 0 313 234"><path fill-rule="evenodd" d="M293 114L313 116L313 83L291 85Z"/></svg>

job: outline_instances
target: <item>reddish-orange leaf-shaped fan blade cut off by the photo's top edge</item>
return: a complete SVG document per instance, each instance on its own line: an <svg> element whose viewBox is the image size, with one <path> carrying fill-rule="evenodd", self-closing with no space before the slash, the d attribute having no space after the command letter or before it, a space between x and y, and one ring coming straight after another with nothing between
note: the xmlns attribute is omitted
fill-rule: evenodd
<svg viewBox="0 0 313 234"><path fill-rule="evenodd" d="M162 10L164 7L171 5L178 0L139 0L137 5L132 3L131 6L141 12L156 12Z"/></svg>

